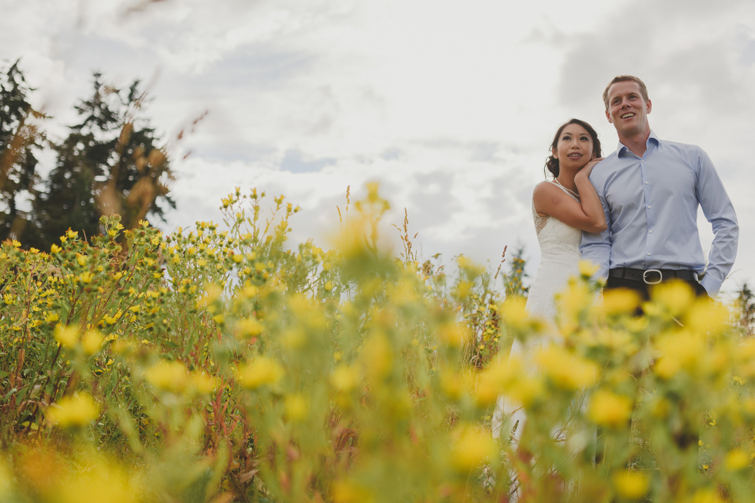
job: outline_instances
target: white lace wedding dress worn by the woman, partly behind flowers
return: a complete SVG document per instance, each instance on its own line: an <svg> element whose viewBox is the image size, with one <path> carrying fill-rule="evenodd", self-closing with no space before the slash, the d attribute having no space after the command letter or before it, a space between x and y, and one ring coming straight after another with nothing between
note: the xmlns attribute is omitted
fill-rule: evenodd
<svg viewBox="0 0 755 503"><path fill-rule="evenodd" d="M550 180L549 180L550 182ZM569 194L562 186L556 182L550 182L562 189L572 199L579 202L578 198ZM538 234L538 243L540 244L540 265L535 272L535 281L529 289L527 296L527 310L532 316L540 317L550 328L544 331L544 335L535 336L529 339L526 345L515 340L511 345L511 357L518 357L524 363L524 367L532 373L538 373L538 363L535 358L538 351L547 343L555 330L556 320L556 301L554 296L559 293L565 286L569 278L579 272L579 244L582 239L582 232L578 228L566 225L553 216L538 216L535 211L535 201L532 201L532 216L535 219L535 232ZM501 436L501 428L506 423L509 428L513 428L516 422L516 432L513 440L519 441L522 427L525 423L525 413L517 405L506 400L505 395L498 397L498 403L493 413L492 430L493 437Z"/></svg>

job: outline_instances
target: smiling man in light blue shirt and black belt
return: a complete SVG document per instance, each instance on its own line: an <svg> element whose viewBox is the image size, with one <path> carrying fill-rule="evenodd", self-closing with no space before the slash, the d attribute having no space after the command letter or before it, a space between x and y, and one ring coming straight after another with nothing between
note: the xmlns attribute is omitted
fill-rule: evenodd
<svg viewBox="0 0 755 503"><path fill-rule="evenodd" d="M677 279L698 295L718 295L737 253L737 216L713 163L698 146L660 140L650 129L643 81L619 75L603 93L618 149L590 173L608 228L584 232L582 258L599 266L606 287L647 298L648 285ZM705 268L698 205L713 225ZM698 276L704 272L702 281Z"/></svg>

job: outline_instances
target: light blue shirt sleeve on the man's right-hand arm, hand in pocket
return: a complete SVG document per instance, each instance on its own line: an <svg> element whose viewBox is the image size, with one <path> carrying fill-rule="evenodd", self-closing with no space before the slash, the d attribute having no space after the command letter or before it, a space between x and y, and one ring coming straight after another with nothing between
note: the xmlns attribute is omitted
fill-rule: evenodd
<svg viewBox="0 0 755 503"><path fill-rule="evenodd" d="M737 256L739 225L734 205L726 194L726 189L723 188L723 182L716 168L713 167L713 162L702 149L698 150L697 161L699 173L695 190L703 214L713 226L714 235L705 276L700 283L709 296L715 297L734 265L734 259Z"/></svg>

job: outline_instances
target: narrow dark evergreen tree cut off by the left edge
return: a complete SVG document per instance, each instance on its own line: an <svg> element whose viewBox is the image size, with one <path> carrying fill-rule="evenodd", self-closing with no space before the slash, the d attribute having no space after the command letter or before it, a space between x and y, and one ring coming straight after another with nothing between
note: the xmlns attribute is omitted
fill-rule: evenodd
<svg viewBox="0 0 755 503"><path fill-rule="evenodd" d="M45 140L34 120L45 115L27 101L33 89L26 85L18 63L0 72L0 241L23 235L29 216L19 204L25 195L35 194L39 181L35 152Z"/></svg>

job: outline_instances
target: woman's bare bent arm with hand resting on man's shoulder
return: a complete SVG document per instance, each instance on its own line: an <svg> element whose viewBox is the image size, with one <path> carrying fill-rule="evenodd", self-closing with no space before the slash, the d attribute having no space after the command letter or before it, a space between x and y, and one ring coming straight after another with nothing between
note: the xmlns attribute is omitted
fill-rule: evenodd
<svg viewBox="0 0 755 503"><path fill-rule="evenodd" d="M543 215L553 216L566 225L581 231L599 233L606 230L606 213L593 184L590 183L590 172L600 159L593 159L578 171L574 177L579 192L581 204L572 199L553 183L541 183L535 187L535 210Z"/></svg>

